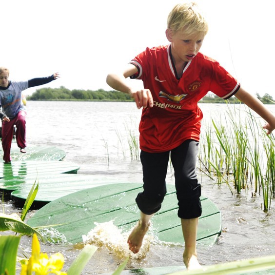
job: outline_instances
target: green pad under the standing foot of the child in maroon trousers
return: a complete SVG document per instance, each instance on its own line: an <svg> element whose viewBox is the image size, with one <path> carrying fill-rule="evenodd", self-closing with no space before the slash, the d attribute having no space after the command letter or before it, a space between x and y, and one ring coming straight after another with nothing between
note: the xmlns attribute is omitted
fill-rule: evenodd
<svg viewBox="0 0 275 275"><path fill-rule="evenodd" d="M79 165L59 160L12 161L10 164L0 163L0 178L26 177L30 175L39 177L42 174L53 173L77 174L78 170ZM4 186L2 182L0 185Z"/></svg>

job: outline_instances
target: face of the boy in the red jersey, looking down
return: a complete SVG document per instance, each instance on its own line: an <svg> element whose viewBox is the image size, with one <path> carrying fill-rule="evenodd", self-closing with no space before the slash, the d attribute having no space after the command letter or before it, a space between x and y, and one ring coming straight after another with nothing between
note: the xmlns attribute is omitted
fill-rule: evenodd
<svg viewBox="0 0 275 275"><path fill-rule="evenodd" d="M167 29L166 36L171 42L172 56L176 63L194 59L204 39L202 33L185 34L184 30L174 33L171 29Z"/></svg>

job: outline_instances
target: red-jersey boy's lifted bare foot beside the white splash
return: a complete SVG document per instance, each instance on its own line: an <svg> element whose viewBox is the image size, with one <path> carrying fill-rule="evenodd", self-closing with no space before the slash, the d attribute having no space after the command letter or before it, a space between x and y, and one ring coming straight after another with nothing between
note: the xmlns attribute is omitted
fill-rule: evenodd
<svg viewBox="0 0 275 275"><path fill-rule="evenodd" d="M139 220L128 237L127 243L133 253L137 253L142 245L143 238L149 229L149 224L142 224Z"/></svg>

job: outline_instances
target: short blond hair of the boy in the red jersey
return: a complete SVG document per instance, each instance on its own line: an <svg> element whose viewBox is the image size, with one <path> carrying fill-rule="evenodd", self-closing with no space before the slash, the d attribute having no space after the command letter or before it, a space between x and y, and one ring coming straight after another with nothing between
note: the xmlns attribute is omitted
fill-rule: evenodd
<svg viewBox="0 0 275 275"><path fill-rule="evenodd" d="M177 4L168 15L167 29L174 33L184 31L185 34L208 32L208 24L201 15L195 2Z"/></svg>

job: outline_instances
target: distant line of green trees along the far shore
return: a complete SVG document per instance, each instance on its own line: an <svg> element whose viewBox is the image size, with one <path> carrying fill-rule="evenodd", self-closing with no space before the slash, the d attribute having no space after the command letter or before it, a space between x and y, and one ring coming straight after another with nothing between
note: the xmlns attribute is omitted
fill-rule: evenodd
<svg viewBox="0 0 275 275"><path fill-rule="evenodd" d="M275 104L275 99L269 94L265 94L260 97L256 94L256 97L261 100L264 104ZM69 90L64 86L59 88L40 88L37 89L32 95L26 97L27 100L34 101L121 101L121 102L132 102L134 101L128 94L124 94L118 91L105 91L99 89L93 90ZM217 97L213 93L209 92L199 103L241 103L236 97L224 100Z"/></svg>

